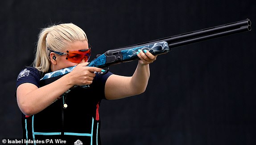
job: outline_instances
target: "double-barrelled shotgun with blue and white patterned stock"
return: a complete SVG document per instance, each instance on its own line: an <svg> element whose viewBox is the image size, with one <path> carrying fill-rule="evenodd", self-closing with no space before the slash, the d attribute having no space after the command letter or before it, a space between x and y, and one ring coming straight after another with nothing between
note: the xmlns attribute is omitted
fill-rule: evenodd
<svg viewBox="0 0 256 145"><path fill-rule="evenodd" d="M247 31L251 31L251 21L249 19L229 24L223 24L211 28L205 28L193 32L183 33L175 36L169 36L157 40L151 40L148 42L134 44L123 48L111 49L101 55L97 55L97 57L92 60L87 66L107 68L108 71L108 66L139 59L136 55L138 49L142 51L148 50L153 55L160 55L171 51L172 48L177 48L187 44ZM51 82L57 80L63 75L71 72L74 67L75 66L47 73L43 78L41 78L40 83L43 85L50 84ZM106 72L99 73L102 74ZM82 87L86 88L89 87L89 85L85 85Z"/></svg>

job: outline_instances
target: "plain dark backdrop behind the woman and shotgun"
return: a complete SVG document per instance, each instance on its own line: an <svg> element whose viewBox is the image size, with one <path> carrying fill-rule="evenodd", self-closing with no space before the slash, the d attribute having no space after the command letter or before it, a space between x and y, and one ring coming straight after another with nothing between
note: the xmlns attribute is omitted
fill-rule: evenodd
<svg viewBox="0 0 256 145"><path fill-rule="evenodd" d="M249 18L252 31L173 49L150 64L145 93L102 101L103 145L256 143L255 0L1 0L0 137L21 137L14 97L40 28L74 23L109 49ZM111 66L131 76L136 61ZM77 119L79 119L78 117Z"/></svg>

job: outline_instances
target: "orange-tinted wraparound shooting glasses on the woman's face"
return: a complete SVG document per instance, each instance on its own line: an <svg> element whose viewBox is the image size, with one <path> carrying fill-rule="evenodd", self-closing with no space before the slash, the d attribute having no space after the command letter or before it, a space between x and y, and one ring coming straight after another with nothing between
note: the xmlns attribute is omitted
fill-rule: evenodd
<svg viewBox="0 0 256 145"><path fill-rule="evenodd" d="M81 50L67 50L65 52L58 52L53 51L48 48L50 52L54 52L58 54L59 56L66 55L66 60L69 60L74 63L80 63L82 60L85 60L87 62L91 56L91 48L88 49L81 49Z"/></svg>

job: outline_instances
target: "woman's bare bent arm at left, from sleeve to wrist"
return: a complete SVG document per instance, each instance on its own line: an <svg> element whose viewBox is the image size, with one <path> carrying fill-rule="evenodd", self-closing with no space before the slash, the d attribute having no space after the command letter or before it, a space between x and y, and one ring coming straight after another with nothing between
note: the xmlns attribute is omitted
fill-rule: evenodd
<svg viewBox="0 0 256 145"><path fill-rule="evenodd" d="M17 102L21 111L26 115L33 115L48 107L73 86L69 77L67 74L41 88L29 83L20 85L17 88Z"/></svg>

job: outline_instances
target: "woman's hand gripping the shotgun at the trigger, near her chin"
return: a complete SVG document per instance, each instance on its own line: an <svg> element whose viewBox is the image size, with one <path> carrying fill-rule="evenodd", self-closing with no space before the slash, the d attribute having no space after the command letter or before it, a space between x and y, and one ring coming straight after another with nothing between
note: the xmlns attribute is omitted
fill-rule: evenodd
<svg viewBox="0 0 256 145"><path fill-rule="evenodd" d="M95 72L102 72L102 68L89 67L88 62L78 64L67 75L71 78L73 85L90 85L95 77Z"/></svg>

